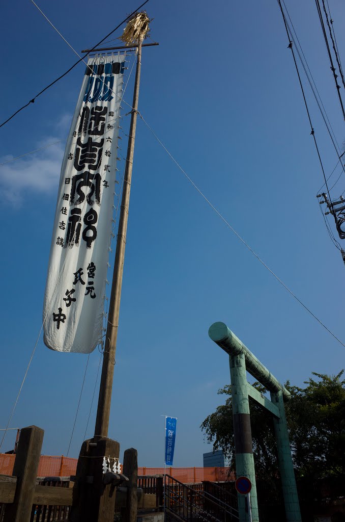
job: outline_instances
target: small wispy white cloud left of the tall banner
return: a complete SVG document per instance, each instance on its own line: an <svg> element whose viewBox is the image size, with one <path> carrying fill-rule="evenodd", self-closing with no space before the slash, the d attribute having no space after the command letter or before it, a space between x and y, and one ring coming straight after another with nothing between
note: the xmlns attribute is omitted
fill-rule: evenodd
<svg viewBox="0 0 345 522"><path fill-rule="evenodd" d="M69 124L70 116L62 116L56 126L61 132L60 136L45 136L43 140L38 141L37 148L55 143L62 136L66 136L66 127ZM65 145L66 141L63 140L56 145L2 165L0 190L3 200L18 206L32 191L41 195L56 191ZM13 156L2 157L0 163L12 158Z"/></svg>

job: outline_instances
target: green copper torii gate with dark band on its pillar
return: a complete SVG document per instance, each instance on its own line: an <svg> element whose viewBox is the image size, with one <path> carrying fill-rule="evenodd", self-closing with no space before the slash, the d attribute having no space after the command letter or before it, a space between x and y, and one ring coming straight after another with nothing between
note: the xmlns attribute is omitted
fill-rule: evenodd
<svg viewBox="0 0 345 522"><path fill-rule="evenodd" d="M248 477L252 482L252 520L259 521L249 397L273 415L286 522L301 522L284 407L284 401L290 399L290 392L256 359L225 323L213 323L208 330L208 335L229 355L236 474L238 477ZM269 390L271 400L247 382L246 371ZM247 522L249 515L245 513L245 498L240 494L238 494L238 506L240 522Z"/></svg>

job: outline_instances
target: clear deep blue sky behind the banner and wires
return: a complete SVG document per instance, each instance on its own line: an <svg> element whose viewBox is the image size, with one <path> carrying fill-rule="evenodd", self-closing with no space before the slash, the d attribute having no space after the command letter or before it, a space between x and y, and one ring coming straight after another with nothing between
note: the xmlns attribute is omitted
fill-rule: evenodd
<svg viewBox="0 0 345 522"><path fill-rule="evenodd" d="M286 3L341 144L344 122L316 8ZM136 7L108 0L98 9L89 0L39 5L78 52ZM343 55L345 11L340 0L329 5ZM315 197L322 172L277 3L151 0L146 7L159 46L143 53L140 112L207 198L344 342L344 266ZM76 61L31 2L7 3L3 20L1 121ZM66 138L83 73L77 66L0 129L0 162ZM337 157L306 93L329 175ZM130 86L128 94L130 102ZM42 324L63 152L61 141L0 167L1 428ZM139 465L163 465L162 414L178 417L174 465L202 466L202 453L212 449L199 426L229 382L227 357L207 335L214 321L226 322L281 381L301 385L312 371L344 366L344 348L257 262L139 121L109 428L121 454L138 449ZM99 359L96 350L69 456L84 438ZM44 428L44 454L66 455L86 362L39 340L11 426ZM97 393L98 384L87 436Z"/></svg>

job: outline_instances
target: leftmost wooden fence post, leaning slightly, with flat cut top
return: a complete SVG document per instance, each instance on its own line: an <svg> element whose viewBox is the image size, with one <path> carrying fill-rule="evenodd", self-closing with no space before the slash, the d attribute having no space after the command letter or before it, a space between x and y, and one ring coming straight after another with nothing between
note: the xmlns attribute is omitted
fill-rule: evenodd
<svg viewBox="0 0 345 522"><path fill-rule="evenodd" d="M37 426L20 431L13 468L17 477L15 498L12 504L6 505L4 522L30 522L43 435L44 430Z"/></svg>

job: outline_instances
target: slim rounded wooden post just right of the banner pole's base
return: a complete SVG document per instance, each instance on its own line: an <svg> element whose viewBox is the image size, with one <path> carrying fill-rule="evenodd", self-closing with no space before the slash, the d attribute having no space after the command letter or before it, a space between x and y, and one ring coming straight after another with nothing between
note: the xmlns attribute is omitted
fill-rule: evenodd
<svg viewBox="0 0 345 522"><path fill-rule="evenodd" d="M124 475L127 482L126 507L121 508L123 522L137 522L138 515L138 452L134 448L126 449L124 454Z"/></svg>

